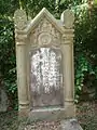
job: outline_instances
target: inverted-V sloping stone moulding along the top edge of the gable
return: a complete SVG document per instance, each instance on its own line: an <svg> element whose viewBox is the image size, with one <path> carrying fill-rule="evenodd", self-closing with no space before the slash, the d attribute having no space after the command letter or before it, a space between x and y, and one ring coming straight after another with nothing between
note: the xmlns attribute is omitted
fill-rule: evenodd
<svg viewBox="0 0 97 130"><path fill-rule="evenodd" d="M47 26L46 24L48 24L47 27L52 25L59 32L64 34L63 26L59 25L58 21L45 8L43 8L42 11L29 23L29 26L27 27L27 31L33 30L39 24L41 26L42 23L43 23L43 27L42 27L43 30L45 30L44 28Z"/></svg>

